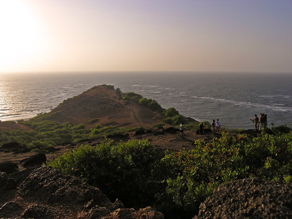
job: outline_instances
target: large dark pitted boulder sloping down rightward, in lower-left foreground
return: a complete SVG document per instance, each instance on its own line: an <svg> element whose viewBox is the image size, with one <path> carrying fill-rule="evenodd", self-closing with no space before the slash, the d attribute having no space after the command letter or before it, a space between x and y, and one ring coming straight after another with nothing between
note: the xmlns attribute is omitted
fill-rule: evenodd
<svg viewBox="0 0 292 219"><path fill-rule="evenodd" d="M61 171L41 166L19 185L19 194L40 204L82 204L93 200L98 206L112 205L102 192L82 183L76 177L63 175Z"/></svg>

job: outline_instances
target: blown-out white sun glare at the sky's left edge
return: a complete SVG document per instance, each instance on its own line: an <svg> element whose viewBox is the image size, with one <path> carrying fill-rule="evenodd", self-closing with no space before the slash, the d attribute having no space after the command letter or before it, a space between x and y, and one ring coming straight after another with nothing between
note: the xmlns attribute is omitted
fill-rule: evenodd
<svg viewBox="0 0 292 219"><path fill-rule="evenodd" d="M40 36L25 1L0 0L0 72L32 61Z"/></svg>

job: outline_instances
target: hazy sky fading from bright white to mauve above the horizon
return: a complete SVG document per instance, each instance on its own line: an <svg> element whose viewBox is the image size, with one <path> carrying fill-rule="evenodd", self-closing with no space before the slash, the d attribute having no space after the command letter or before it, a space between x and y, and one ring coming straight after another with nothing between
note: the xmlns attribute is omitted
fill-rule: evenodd
<svg viewBox="0 0 292 219"><path fill-rule="evenodd" d="M289 72L292 0L0 0L0 74Z"/></svg>

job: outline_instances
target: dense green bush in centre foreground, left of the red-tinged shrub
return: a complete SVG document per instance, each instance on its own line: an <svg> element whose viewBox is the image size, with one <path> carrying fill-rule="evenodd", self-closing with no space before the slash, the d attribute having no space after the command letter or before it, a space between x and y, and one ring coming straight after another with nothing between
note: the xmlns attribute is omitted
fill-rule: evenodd
<svg viewBox="0 0 292 219"><path fill-rule="evenodd" d="M154 201L158 184L151 171L156 160L154 146L148 141L117 145L109 141L68 151L48 165L100 188L112 202L118 198L129 208L140 208Z"/></svg>

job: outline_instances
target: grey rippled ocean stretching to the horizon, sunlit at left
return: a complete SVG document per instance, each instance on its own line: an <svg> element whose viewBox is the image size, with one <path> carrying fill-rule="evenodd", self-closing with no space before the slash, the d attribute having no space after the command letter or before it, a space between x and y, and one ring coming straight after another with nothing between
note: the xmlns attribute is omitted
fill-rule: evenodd
<svg viewBox="0 0 292 219"><path fill-rule="evenodd" d="M50 112L93 86L111 84L174 107L197 121L254 128L254 114L267 114L268 127L292 124L292 74L223 72L86 72L0 75L0 120ZM98 106L96 106L98 107Z"/></svg>

